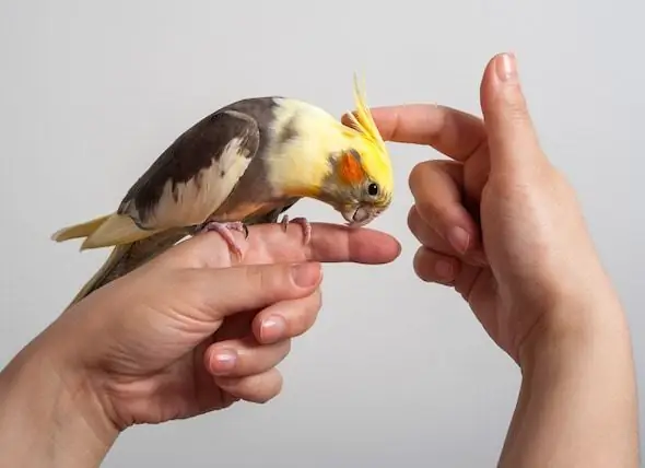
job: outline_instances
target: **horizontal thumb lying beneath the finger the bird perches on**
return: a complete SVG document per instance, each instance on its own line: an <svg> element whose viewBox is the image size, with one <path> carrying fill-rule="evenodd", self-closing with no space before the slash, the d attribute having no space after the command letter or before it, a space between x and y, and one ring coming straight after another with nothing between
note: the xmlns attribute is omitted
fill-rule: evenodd
<svg viewBox="0 0 645 468"><path fill-rule="evenodd" d="M251 265L198 269L199 293L213 319L306 297L319 285L318 262Z"/></svg>

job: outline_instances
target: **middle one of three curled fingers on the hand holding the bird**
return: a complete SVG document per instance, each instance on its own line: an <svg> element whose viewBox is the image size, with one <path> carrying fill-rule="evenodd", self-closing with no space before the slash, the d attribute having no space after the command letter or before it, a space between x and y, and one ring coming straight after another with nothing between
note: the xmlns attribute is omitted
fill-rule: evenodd
<svg viewBox="0 0 645 468"><path fill-rule="evenodd" d="M204 364L215 376L244 377L261 374L282 362L291 350L291 341L260 344L253 337L211 344Z"/></svg>

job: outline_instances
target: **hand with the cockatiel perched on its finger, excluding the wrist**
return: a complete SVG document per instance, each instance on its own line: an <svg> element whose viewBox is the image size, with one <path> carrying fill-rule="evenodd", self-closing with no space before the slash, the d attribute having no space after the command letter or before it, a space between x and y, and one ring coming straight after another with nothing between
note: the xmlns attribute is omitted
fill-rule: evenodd
<svg viewBox="0 0 645 468"><path fill-rule="evenodd" d="M295 224L238 237L242 265L220 236L199 235L66 311L37 346L83 374L118 430L263 402L281 389L275 365L290 339L316 319L318 262L399 254L387 234L326 224L313 225L308 245Z"/></svg>

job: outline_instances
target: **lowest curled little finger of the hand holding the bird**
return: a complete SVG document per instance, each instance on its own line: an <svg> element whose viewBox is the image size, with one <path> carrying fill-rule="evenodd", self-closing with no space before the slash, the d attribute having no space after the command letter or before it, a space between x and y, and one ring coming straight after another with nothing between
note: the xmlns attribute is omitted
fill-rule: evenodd
<svg viewBox="0 0 645 468"><path fill-rule="evenodd" d="M265 403L282 390L282 375L273 367L247 377L214 377L215 385L234 397L254 403Z"/></svg>

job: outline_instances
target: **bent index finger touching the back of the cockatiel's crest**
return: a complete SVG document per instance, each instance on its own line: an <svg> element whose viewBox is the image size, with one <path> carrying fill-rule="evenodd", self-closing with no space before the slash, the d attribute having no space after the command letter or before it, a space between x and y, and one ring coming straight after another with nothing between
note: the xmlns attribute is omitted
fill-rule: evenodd
<svg viewBox="0 0 645 468"><path fill-rule="evenodd" d="M450 107L403 104L370 112L384 140L427 144L457 161L466 161L485 140L482 119ZM349 124L347 116L342 121Z"/></svg>

